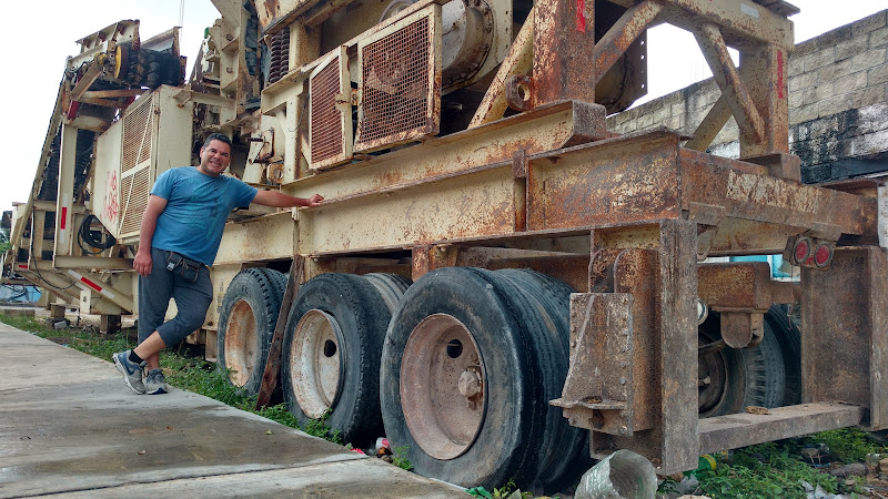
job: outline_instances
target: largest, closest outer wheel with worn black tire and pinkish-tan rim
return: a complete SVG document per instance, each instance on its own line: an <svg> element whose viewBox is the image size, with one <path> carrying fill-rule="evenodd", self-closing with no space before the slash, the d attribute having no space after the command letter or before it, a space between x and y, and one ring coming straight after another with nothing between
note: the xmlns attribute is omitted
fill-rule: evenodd
<svg viewBox="0 0 888 499"><path fill-rule="evenodd" d="M380 371L383 420L392 447L405 448L420 475L487 488L511 479L526 488L537 476L547 401L533 337L522 328L516 303L504 294L504 281L480 268L436 269L407 289L392 317ZM463 340L448 339L456 337ZM445 344L450 358L441 355ZM426 360L430 376L411 375L423 373ZM460 361L478 364L484 389L475 406L460 399L462 390L455 393L451 381L456 375L441 383L435 376L452 373L448 363ZM466 404L471 409L463 408ZM454 424L451 410L474 410L477 417ZM422 428L425 420L435 427ZM457 434L456 445L450 446Z"/></svg>

